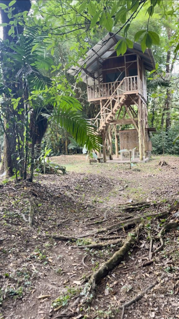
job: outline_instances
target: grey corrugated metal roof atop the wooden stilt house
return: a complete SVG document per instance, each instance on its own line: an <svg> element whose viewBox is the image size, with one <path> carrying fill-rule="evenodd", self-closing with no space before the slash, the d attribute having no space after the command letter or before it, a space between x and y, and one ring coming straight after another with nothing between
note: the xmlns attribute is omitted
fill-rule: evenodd
<svg viewBox="0 0 179 319"><path fill-rule="evenodd" d="M97 78L97 60L99 63L103 63L103 59L110 57L114 52L114 47L116 43L123 39L119 35L115 35L111 38L111 33L107 34L101 41L99 41L92 49L86 53L85 59L80 59L78 61L78 66L71 67L68 73L71 75L77 75L81 72L81 78L86 83L86 75L90 73L95 73L95 78ZM146 70L154 70L155 61L151 49L146 49L142 52L141 46L137 42L133 42L133 48L127 48L130 53L138 53L141 59L144 61L144 66ZM94 79L95 81L95 79ZM93 80L91 79L89 85L93 85Z"/></svg>

